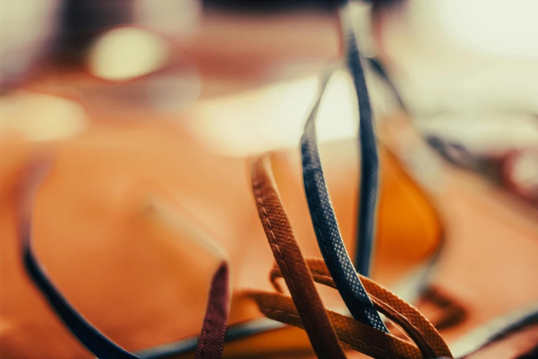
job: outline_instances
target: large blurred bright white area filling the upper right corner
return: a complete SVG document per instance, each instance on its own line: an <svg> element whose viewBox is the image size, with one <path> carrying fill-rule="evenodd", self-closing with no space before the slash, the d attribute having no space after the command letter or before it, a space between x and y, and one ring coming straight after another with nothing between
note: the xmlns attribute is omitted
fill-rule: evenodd
<svg viewBox="0 0 538 359"><path fill-rule="evenodd" d="M382 17L381 52L415 112L536 113L537 10L532 0L405 1Z"/></svg>

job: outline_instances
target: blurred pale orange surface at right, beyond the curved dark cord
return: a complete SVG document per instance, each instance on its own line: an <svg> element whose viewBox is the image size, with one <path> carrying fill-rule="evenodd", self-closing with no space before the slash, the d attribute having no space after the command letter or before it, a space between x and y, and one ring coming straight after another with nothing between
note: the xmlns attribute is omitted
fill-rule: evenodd
<svg viewBox="0 0 538 359"><path fill-rule="evenodd" d="M429 183L431 198L447 241L434 283L469 311L462 325L443 336L449 342L462 338L497 316L538 301L537 210L440 158L425 163L425 152L431 150L406 116L394 116L379 133L385 145L421 169L419 177L435 181Z"/></svg>

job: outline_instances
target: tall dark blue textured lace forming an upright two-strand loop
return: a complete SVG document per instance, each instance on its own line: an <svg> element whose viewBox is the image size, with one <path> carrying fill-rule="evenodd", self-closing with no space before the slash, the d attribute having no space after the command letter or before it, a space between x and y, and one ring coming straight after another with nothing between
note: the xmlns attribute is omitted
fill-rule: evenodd
<svg viewBox="0 0 538 359"><path fill-rule="evenodd" d="M347 10L347 9L346 9ZM342 12L346 14L346 12ZM342 15L343 16L343 15ZM342 19L346 20L346 19ZM361 147L361 184L359 191L359 214L357 220L357 268L358 272L368 276L377 209L377 192L379 176L379 159L377 143L372 124L372 109L366 79L361 65L360 53L352 28L348 30L342 23L345 53L348 68L352 74L357 100L359 101L359 144ZM359 279L357 270L341 238L333 206L330 203L319 148L315 120L320 107L321 97L330 75L325 76L320 92L309 118L306 120L301 137L304 192L308 200L309 212L315 230L318 245L328 270L335 280L337 290L353 318L374 328L388 332L383 320L374 309L366 290Z"/></svg>

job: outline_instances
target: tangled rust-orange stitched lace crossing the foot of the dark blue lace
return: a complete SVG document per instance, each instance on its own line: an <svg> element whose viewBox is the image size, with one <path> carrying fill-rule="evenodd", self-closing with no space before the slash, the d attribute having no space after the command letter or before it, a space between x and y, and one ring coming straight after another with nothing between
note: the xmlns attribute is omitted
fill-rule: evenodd
<svg viewBox="0 0 538 359"><path fill-rule="evenodd" d="M305 329L320 358L341 356L341 348L330 352L330 348L336 347L332 335L334 331L343 347L361 351L374 358L451 358L444 340L417 309L366 277L362 279L368 283L368 293L374 299L377 309L399 324L416 345L353 318L320 308L317 304L320 297L313 287L314 281L331 287L337 287L336 283L322 261L305 261L302 257L282 207L267 157L254 162L252 186L258 214L278 265L278 268L271 271L271 281L275 283L276 278L284 277L291 294L290 298L282 293L253 292L251 297L258 303L262 313L282 323ZM312 327L315 325L313 318L326 320L326 316L334 329L328 329L326 336L311 336L313 331L320 331L320 327Z"/></svg>

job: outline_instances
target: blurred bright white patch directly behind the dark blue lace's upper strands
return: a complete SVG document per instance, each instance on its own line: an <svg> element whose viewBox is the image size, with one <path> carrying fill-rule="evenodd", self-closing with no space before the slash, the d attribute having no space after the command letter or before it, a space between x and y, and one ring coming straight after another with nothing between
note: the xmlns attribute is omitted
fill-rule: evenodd
<svg viewBox="0 0 538 359"><path fill-rule="evenodd" d="M203 100L192 109L190 128L228 155L251 155L297 146L315 102L318 76ZM321 141L357 135L357 99L350 76L330 78L317 118Z"/></svg>

